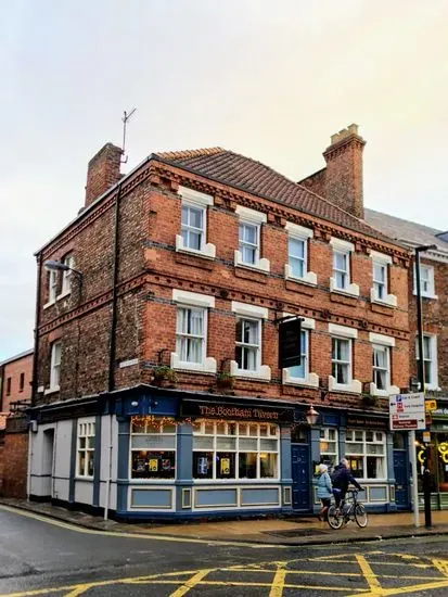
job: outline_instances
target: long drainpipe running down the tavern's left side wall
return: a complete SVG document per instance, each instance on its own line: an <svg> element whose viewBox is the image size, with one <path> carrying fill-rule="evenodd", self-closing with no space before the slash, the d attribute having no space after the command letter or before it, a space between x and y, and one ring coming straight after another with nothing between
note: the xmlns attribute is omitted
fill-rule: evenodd
<svg viewBox="0 0 448 597"><path fill-rule="evenodd" d="M115 215L114 215L114 264L112 269L113 287L112 287L112 321L111 321L111 340L108 351L108 382L107 391L112 392L115 388L115 354L116 354L116 329L117 329L117 284L118 284L118 244L119 244L119 202L121 199L121 185L118 187L117 199L115 200ZM111 399L108 403L111 408ZM111 481L112 481L112 412L110 414L108 424L108 473L106 479L106 495L104 504L104 520L108 518L108 507L111 501Z"/></svg>

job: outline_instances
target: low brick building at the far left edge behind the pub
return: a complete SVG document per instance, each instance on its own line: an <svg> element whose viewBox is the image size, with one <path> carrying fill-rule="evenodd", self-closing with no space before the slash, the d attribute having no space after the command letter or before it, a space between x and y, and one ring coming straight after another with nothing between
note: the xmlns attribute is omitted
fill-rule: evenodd
<svg viewBox="0 0 448 597"><path fill-rule="evenodd" d="M28 434L20 410L31 398L33 351L0 363L0 495L26 494Z"/></svg>

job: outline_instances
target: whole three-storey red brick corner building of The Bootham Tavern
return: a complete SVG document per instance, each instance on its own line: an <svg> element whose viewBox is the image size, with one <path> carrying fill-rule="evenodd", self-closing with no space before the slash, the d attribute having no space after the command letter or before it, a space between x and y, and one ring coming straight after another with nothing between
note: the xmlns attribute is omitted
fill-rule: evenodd
<svg viewBox="0 0 448 597"><path fill-rule="evenodd" d="M126 176L118 148L92 158L82 211L37 253L34 498L311 511L315 466L347 456L372 508L407 505L387 396L409 382L409 254L360 217L363 145L332 138L315 186L333 202L219 148ZM290 314L303 359L280 370Z"/></svg>

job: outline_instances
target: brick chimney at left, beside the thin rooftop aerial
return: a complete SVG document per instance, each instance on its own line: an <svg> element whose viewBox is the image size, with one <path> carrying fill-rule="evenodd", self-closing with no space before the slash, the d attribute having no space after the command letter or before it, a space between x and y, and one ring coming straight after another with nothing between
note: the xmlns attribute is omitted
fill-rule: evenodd
<svg viewBox="0 0 448 597"><path fill-rule="evenodd" d="M88 207L120 179L121 150L113 143L106 143L90 160L87 168L86 202Z"/></svg>

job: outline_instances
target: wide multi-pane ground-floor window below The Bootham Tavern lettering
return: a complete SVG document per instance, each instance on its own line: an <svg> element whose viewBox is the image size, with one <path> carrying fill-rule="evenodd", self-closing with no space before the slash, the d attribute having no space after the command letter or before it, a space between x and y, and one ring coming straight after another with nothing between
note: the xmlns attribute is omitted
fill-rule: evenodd
<svg viewBox="0 0 448 597"><path fill-rule="evenodd" d="M278 478L278 425L212 420L193 423L193 479Z"/></svg>

